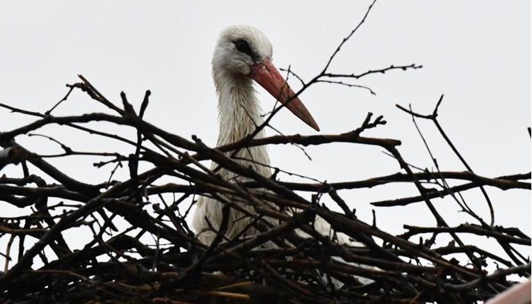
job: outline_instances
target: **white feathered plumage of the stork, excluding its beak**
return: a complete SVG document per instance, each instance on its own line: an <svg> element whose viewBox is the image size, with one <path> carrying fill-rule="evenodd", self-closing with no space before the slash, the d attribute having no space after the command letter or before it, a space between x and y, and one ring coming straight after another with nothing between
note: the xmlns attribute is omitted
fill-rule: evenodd
<svg viewBox="0 0 532 304"><path fill-rule="evenodd" d="M245 40L256 57L271 57L272 47L264 33L252 26L232 26L220 35L212 60L212 76L218 95L218 122L219 133L217 145L233 143L255 131L257 125L263 122L262 110L253 87L253 81L247 75L250 74L250 65L253 58L248 54L242 54L236 50L234 41ZM257 134L257 138L264 137L264 130ZM253 161L246 161L252 159ZM268 166L270 159L266 146L250 147L239 150L234 155L234 161L243 166L251 166L257 173L263 176L271 175ZM217 167L212 163L211 169ZM225 179L234 179L235 174L221 168L218 173ZM252 211L252 208L240 204L243 208ZM193 228L199 234L203 243L211 243L216 236L214 230L218 230L222 221L223 205L213 198L201 197L197 203L197 209L193 218ZM207 220L206 220L207 218ZM241 212L232 210L229 218L227 237L234 237L241 232L249 221L243 218ZM213 227L210 227L212 225ZM246 234L255 234L256 230L250 228Z"/></svg>

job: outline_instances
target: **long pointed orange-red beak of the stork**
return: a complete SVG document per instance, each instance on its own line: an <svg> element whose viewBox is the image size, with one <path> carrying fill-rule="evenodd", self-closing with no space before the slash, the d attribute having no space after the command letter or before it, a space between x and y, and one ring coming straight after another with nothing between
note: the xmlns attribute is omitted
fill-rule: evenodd
<svg viewBox="0 0 532 304"><path fill-rule="evenodd" d="M303 102L298 97L294 97L296 94L293 93L293 90L288 86L287 81L281 76L270 58L264 58L260 63L252 65L249 76L284 104L300 120L303 120L312 129L320 130Z"/></svg>

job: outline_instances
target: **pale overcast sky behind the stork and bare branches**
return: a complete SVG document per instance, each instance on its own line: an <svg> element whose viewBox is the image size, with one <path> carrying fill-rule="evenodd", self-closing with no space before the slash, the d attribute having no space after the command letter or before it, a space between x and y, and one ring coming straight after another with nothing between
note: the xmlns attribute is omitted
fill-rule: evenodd
<svg viewBox="0 0 532 304"><path fill-rule="evenodd" d="M196 134L214 145L218 125L210 61L218 33L225 26L244 23L261 29L273 44L275 65L291 65L300 77L310 79L321 71L368 5L369 1L1 1L0 102L44 112L66 93L65 83L74 83L76 74L83 74L117 103L124 90L137 109L144 91L152 90L147 121L185 138ZM412 104L415 110L429 113L444 93L440 122L476 173L488 177L526 173L531 168L526 131L531 118L530 6L530 1L380 0L330 71L360 73L410 63L424 65L423 69L376 74L357 82L371 86L376 96L322 83L300 98L323 134L359 127L368 111L385 115L388 124L366 135L401 139L399 150L407 161L431 168L410 117L394 105ZM291 81L291 86L297 89L298 82ZM259 93L264 109L271 109L273 98L264 90ZM54 114L88 111L104 108L76 92ZM0 131L32 120L0 109ZM273 124L284 134L315 134L288 111L279 113ZM420 125L440 168L465 170L435 127L429 122ZM46 127L39 133L54 135L74 150L113 149L108 141L63 128ZM45 139L20 136L17 141L34 152L61 151ZM131 147L114 148L133 151ZM309 147L307 152L313 161L295 147L270 147L273 166L329 182L399 170L396 161L376 147L336 144ZM83 157L50 160L84 182L102 182L111 168L97 170L93 161ZM10 166L2 173L13 176L20 171ZM127 176L127 171L120 176ZM487 190L497 224L517 226L530 234L529 191ZM465 198L486 216L479 193L469 191ZM373 209L369 202L415 194L414 186L408 184L341 191L350 207L357 208L357 215L367 221ZM451 225L474 222L459 214L451 200L433 202ZM6 215L19 213L5 203L0 202L0 207ZM402 232L405 223L435 223L423 203L376 212L379 227L392 233Z"/></svg>

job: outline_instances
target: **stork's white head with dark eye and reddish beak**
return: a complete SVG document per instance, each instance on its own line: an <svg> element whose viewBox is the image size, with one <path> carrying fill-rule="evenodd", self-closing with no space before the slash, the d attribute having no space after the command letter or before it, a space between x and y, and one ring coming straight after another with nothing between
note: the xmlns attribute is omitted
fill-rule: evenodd
<svg viewBox="0 0 532 304"><path fill-rule="evenodd" d="M252 26L229 26L218 38L212 60L213 72L222 72L225 77L255 80L300 120L319 131L318 124L271 58L272 46L264 33Z"/></svg>

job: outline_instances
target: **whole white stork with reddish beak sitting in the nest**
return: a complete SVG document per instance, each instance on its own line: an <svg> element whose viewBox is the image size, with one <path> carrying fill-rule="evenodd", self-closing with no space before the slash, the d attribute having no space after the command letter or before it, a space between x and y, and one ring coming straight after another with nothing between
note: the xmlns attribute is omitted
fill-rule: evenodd
<svg viewBox="0 0 532 304"><path fill-rule="evenodd" d="M255 95L254 81L268 90L280 102L286 104L307 125L319 130L318 125L293 91L287 86L283 77L271 63L272 47L264 33L252 26L231 26L220 35L212 60L212 74L218 95L219 134L217 145L234 143L255 131L261 125L262 110ZM260 131L256 138L264 136ZM233 157L243 166L251 166L257 173L269 177L271 170L268 151L265 146L241 149ZM211 168L216 168L213 163ZM224 179L233 180L234 173L220 169L218 173ZM242 179L239 179L242 181ZM252 207L239 204L252 211ZM200 241L209 244L216 236L216 230L222 221L223 204L213 198L201 197L193 217L193 227ZM239 234L251 219L232 209L226 236L230 238ZM250 228L245 235L255 234Z"/></svg>

